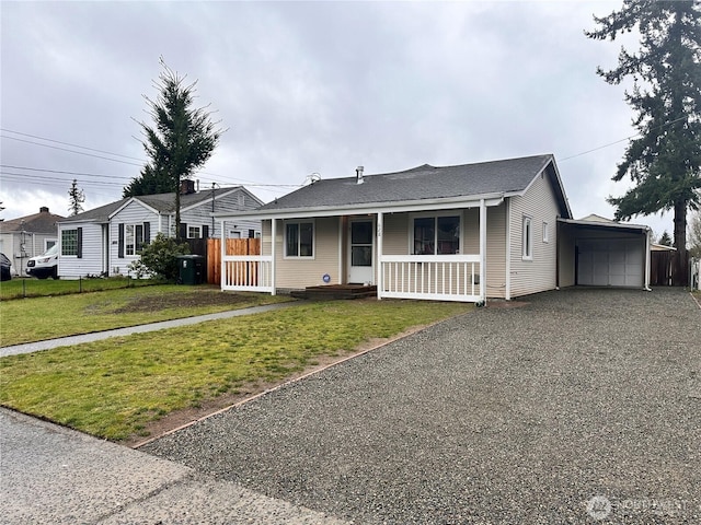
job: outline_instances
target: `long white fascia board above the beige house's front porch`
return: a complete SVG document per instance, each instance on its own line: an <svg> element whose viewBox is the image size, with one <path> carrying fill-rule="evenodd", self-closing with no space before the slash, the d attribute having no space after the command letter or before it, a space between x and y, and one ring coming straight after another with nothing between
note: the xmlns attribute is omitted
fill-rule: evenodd
<svg viewBox="0 0 701 525"><path fill-rule="evenodd" d="M220 220L232 219L299 219L308 217L336 217L336 215L371 215L375 213L403 213L410 211L434 211L451 210L459 208L479 208L480 201L484 200L485 206L498 206L504 201L503 194L487 194L483 196L470 196L449 199L426 199L415 201L398 202L374 202L363 205L350 205L342 207L319 207L319 208L290 208L287 210L269 211L241 211L239 213L217 213L215 218Z"/></svg>

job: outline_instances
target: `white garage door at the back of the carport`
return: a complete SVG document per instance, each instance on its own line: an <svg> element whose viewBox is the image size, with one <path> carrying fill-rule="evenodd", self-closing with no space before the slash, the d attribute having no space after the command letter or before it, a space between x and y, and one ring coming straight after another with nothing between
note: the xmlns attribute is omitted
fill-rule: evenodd
<svg viewBox="0 0 701 525"><path fill-rule="evenodd" d="M640 238L581 240L577 283L643 287L644 247Z"/></svg>

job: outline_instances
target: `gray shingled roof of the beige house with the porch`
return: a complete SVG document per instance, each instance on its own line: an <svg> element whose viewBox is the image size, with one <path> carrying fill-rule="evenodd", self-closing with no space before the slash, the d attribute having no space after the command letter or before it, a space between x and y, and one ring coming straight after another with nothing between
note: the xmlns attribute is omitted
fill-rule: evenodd
<svg viewBox="0 0 701 525"><path fill-rule="evenodd" d="M552 155L436 167L428 164L404 172L318 180L279 197L260 211L416 201L450 197L524 191ZM564 195L562 196L564 199Z"/></svg>

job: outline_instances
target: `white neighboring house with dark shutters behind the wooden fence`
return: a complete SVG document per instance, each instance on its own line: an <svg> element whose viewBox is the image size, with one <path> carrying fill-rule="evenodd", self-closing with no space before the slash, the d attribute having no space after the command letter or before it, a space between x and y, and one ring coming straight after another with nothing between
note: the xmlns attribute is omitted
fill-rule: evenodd
<svg viewBox="0 0 701 525"><path fill-rule="evenodd" d="M192 180L181 190L181 236L220 237L212 213L255 209L262 201L242 186L196 191ZM175 194L128 197L85 211L58 225L61 278L126 276L139 258L141 247L158 233L175 234ZM226 237L255 237L256 220L239 221L223 232Z"/></svg>

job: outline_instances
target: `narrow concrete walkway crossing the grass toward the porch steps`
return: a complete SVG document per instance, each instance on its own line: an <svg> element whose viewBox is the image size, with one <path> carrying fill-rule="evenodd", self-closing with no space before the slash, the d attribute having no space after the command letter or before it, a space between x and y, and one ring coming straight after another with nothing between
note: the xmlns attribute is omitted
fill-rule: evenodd
<svg viewBox="0 0 701 525"><path fill-rule="evenodd" d="M50 350L51 348L69 347L71 345L81 345L83 342L93 342L111 337L130 336L131 334L143 334L145 331L164 330L166 328L175 328L177 326L187 326L204 323L206 320L228 319L230 317L239 317L242 315L261 314L273 310L287 308L299 302L275 303L263 306L252 306L250 308L231 310L228 312L219 312L217 314L196 315L194 317L184 317L182 319L162 320L160 323L150 323L148 325L128 326L126 328L116 328L114 330L95 331L93 334L82 334L80 336L60 337L57 339L47 339L45 341L27 342L24 345L14 345L11 347L0 348L0 358L8 355L16 355L20 353L32 353L42 350Z"/></svg>

